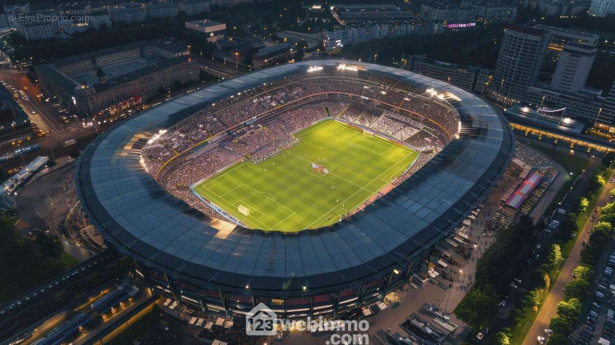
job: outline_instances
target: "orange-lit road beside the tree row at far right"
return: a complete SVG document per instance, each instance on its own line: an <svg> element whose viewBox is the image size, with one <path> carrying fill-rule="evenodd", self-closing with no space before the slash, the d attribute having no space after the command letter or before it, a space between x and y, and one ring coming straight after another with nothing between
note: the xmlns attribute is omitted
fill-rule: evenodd
<svg viewBox="0 0 615 345"><path fill-rule="evenodd" d="M612 174L609 178L613 178L613 175L615 174ZM597 205L602 206L609 202L609 191L611 188L613 188L613 184L607 183L605 188L603 188L600 193ZM572 272L581 260L583 240L589 240L589 230L594 224L594 222L587 220L583 226L583 229L579 232L579 236L577 236L576 242L574 242L573 250L570 252L568 258L566 258L566 261L561 267L560 275L553 283L553 288L551 289L549 295L547 295L547 298L543 301L542 308L538 312L536 320L534 320L534 323L530 327L530 331L528 331L528 335L523 340L523 345L536 344L536 339L538 336L545 336L544 329L549 328L550 320L557 316L555 306L557 306L557 303L560 303L560 301L564 299L564 287L566 286L566 283L572 280Z"/></svg>

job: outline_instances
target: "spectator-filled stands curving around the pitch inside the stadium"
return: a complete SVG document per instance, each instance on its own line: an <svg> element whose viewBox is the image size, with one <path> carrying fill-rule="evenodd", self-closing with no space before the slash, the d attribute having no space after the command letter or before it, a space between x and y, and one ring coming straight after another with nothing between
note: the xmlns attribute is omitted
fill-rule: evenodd
<svg viewBox="0 0 615 345"><path fill-rule="evenodd" d="M258 163L290 148L299 141L293 133L327 116L421 151L396 183L435 156L459 122L450 105L398 79L367 71L298 74L232 95L153 135L141 163L165 189L215 216L192 184L234 162Z"/></svg>

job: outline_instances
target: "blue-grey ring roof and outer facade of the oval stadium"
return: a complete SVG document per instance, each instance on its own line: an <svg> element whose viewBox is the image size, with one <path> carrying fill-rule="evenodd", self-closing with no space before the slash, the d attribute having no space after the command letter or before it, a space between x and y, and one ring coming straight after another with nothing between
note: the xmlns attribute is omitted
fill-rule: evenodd
<svg viewBox="0 0 615 345"><path fill-rule="evenodd" d="M469 135L364 210L327 228L297 233L216 227L216 219L162 189L140 163L140 133L264 82L341 63L435 88ZM446 82L403 69L346 60L302 61L255 71L164 101L93 141L76 167L77 194L106 245L134 258L155 290L192 309L244 317L264 302L279 317L345 317L382 299L424 264L425 254L480 204L514 153L501 111Z"/></svg>

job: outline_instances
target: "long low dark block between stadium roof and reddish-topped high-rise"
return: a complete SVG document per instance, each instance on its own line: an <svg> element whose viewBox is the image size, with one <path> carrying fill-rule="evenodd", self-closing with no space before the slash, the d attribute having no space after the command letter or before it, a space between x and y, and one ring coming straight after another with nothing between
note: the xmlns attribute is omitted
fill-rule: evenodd
<svg viewBox="0 0 615 345"><path fill-rule="evenodd" d="M488 89L493 71L477 66L458 65L426 58L423 55L402 55L400 68L423 74L482 95Z"/></svg>

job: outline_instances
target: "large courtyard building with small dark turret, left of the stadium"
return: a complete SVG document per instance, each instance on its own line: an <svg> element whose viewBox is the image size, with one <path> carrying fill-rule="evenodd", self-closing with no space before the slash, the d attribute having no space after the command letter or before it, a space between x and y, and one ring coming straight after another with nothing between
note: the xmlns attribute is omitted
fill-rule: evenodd
<svg viewBox="0 0 615 345"><path fill-rule="evenodd" d="M186 42L141 41L36 66L42 88L76 114L115 114L199 79Z"/></svg>

